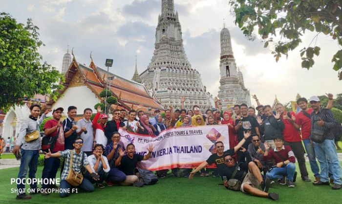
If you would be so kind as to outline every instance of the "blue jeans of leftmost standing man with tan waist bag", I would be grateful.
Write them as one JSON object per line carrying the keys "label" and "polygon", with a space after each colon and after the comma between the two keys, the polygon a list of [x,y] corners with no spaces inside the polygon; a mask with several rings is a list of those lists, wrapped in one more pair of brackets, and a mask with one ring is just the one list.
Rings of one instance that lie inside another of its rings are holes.
{"label": "blue jeans of leftmost standing man with tan waist bag", "polygon": [[[26,150],[21,148],[21,160],[18,178],[21,179],[21,184],[17,185],[18,194],[24,193],[25,185],[24,180],[26,178],[28,170],[28,178],[36,178],[36,172],[38,167],[39,150]],[[37,183],[30,184],[31,188],[37,188]]]}

